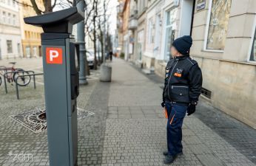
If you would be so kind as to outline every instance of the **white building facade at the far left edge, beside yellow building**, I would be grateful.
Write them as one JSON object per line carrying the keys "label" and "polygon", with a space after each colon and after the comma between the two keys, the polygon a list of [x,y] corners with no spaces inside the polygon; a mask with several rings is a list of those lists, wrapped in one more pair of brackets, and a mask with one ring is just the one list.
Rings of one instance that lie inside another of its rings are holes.
{"label": "white building facade at the far left edge, beside yellow building", "polygon": [[22,57],[19,7],[12,0],[0,0],[0,59]]}

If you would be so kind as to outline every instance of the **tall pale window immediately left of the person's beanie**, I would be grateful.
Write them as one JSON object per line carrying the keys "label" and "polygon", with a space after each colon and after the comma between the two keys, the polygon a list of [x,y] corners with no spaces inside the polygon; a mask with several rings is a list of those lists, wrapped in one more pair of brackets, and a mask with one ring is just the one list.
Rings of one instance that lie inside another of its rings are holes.
{"label": "tall pale window immediately left of the person's beanie", "polygon": [[165,38],[165,48],[164,48],[164,60],[168,61],[171,57],[170,54],[170,47],[172,46],[172,42],[175,38],[175,30],[176,30],[176,23],[175,18],[177,16],[177,8],[173,8],[166,13],[166,38]]}

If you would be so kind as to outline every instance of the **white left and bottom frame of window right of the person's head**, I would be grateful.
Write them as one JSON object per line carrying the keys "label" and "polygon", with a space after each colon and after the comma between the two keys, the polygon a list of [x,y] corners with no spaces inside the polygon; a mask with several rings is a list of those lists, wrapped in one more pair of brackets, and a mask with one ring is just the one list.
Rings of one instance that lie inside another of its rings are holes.
{"label": "white left and bottom frame of window right of the person's head", "polygon": [[205,51],[205,52],[220,52],[220,53],[223,53],[224,50],[206,49],[207,48],[207,40],[208,40],[208,33],[209,33],[209,25],[210,25],[211,13],[212,13],[212,0],[209,0],[208,15],[207,15],[207,19],[206,19],[206,32],[204,34],[203,51]]}

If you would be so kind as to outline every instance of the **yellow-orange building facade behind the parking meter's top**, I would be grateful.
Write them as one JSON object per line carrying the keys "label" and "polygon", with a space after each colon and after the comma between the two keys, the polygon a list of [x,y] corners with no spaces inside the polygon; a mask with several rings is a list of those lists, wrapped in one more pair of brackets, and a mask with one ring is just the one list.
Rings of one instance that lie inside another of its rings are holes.
{"label": "yellow-orange building facade behind the parking meter's top", "polygon": [[[41,57],[41,27],[35,27],[33,25],[25,24],[24,17],[36,15],[36,12],[31,7],[30,0],[22,0],[20,10],[20,22],[21,22],[21,38],[22,38],[22,50],[24,58]],[[36,1],[39,9],[44,11],[43,0]]]}

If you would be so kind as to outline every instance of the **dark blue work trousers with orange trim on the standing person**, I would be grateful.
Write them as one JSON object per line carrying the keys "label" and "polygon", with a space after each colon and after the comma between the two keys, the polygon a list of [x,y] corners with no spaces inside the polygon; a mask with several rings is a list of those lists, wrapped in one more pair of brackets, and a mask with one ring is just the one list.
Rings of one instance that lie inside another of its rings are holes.
{"label": "dark blue work trousers with orange trim on the standing person", "polygon": [[182,152],[182,124],[186,116],[187,106],[166,102],[168,114],[167,122],[167,147],[169,155],[174,156]]}

